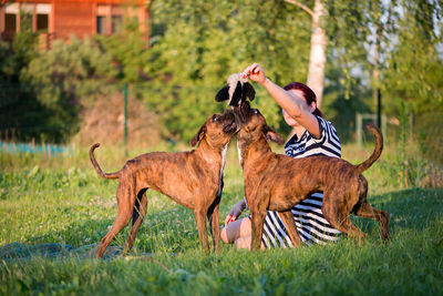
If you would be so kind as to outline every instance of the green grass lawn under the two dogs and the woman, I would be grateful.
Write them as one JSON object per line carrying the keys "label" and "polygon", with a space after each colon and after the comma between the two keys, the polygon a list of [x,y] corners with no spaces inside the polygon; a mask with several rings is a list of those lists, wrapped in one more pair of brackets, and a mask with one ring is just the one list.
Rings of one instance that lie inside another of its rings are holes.
{"label": "green grass lawn under the two dogs and the woman", "polygon": [[[116,214],[117,182],[96,175],[86,150],[52,157],[0,154],[0,247],[58,243],[79,248],[100,242]],[[357,163],[371,150],[344,146],[343,155]],[[236,153],[231,146],[222,220],[243,197]],[[110,147],[100,147],[96,157],[106,172],[125,160],[123,150]],[[383,152],[364,173],[370,203],[390,213],[388,243],[380,239],[378,224],[353,218],[369,233],[363,246],[343,237],[327,246],[258,253],[224,245],[220,254],[203,255],[192,212],[151,191],[128,256],[18,258],[3,252],[0,294],[442,295],[443,190],[403,188],[394,159],[395,153]],[[123,246],[127,228],[122,233],[113,246]]]}

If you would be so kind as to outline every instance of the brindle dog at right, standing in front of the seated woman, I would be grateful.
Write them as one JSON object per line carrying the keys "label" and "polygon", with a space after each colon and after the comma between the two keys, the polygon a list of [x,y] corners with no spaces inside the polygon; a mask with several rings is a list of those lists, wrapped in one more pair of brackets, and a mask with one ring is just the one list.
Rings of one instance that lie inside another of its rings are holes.
{"label": "brindle dog at right, standing in front of the seated woman", "polygon": [[356,241],[365,234],[349,218],[352,212],[360,217],[380,223],[383,238],[389,238],[388,213],[373,208],[367,201],[368,182],[361,175],[374,163],[383,149],[381,132],[373,125],[367,127],[375,136],[372,155],[359,165],[328,156],[291,159],[271,151],[267,140],[282,144],[284,139],[266,124],[257,109],[246,102],[235,109],[237,146],[245,177],[245,195],[251,212],[251,249],[259,249],[266,211],[277,211],[288,228],[295,246],[301,239],[297,233],[290,208],[315,192],[323,192],[322,213],[337,229]]}

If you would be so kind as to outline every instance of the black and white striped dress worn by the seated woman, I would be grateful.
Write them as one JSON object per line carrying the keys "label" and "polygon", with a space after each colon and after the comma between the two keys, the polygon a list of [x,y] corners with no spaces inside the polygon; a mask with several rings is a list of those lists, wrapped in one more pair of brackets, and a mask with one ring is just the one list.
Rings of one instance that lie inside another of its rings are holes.
{"label": "black and white striped dress worn by the seated woman", "polygon": [[[295,134],[285,145],[285,154],[293,157],[327,155],[341,157],[340,141],[336,129],[329,121],[317,116],[320,125],[320,137],[315,139],[308,131],[298,139]],[[340,232],[334,229],[323,217],[321,204],[323,193],[313,193],[309,198],[291,208],[300,238],[307,244],[326,244],[338,241]],[[268,211],[265,220],[262,243],[270,247],[291,247],[285,224],[277,212]]]}

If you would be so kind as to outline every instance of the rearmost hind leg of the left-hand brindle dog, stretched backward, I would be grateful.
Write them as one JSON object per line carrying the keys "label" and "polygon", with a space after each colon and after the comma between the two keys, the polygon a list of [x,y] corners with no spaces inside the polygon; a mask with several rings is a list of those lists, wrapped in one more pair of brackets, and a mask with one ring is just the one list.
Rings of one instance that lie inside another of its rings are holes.
{"label": "rearmost hind leg of the left-hand brindle dog, stretched backward", "polygon": [[117,188],[117,201],[119,201],[119,210],[117,210],[117,216],[114,221],[114,223],[111,226],[111,229],[107,232],[107,234],[102,238],[99,245],[99,251],[96,254],[97,258],[103,257],[103,254],[106,249],[106,247],[110,245],[112,239],[117,235],[130,222],[133,208],[134,208],[134,202],[135,202],[135,196],[134,195],[134,190],[132,186],[124,185],[122,186],[122,183],[119,185]]}

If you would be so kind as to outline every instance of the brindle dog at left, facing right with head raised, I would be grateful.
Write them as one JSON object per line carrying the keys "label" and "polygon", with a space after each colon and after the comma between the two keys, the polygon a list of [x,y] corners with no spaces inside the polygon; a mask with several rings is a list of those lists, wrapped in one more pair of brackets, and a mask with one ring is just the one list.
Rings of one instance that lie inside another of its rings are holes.
{"label": "brindle dog at left, facing right with head raised", "polygon": [[198,228],[200,246],[209,252],[206,217],[213,233],[215,251],[220,248],[218,206],[223,191],[223,169],[231,136],[237,132],[233,111],[214,114],[190,141],[196,150],[169,153],[153,152],[126,162],[116,173],[103,173],[94,159],[94,144],[90,159],[99,175],[119,178],[117,216],[102,238],[96,257],[102,257],[107,245],[133,217],[125,252],[132,248],[135,235],[146,214],[146,190],[155,190],[178,204],[193,210]]}

